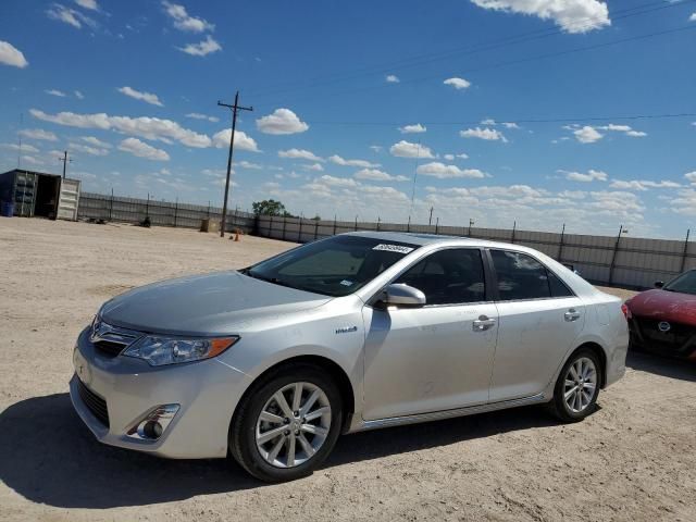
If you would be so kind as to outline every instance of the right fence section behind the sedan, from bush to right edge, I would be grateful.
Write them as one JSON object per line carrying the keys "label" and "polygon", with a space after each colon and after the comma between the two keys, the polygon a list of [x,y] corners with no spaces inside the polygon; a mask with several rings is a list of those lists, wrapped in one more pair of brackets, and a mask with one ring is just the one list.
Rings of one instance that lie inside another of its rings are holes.
{"label": "right fence section behind the sedan, from bush to right edge", "polygon": [[414,232],[514,243],[535,248],[563,263],[572,263],[587,281],[608,286],[647,288],[669,281],[684,270],[696,269],[696,244],[621,236],[586,236],[548,232],[468,226],[406,225],[315,221],[299,217],[259,217],[256,234],[274,239],[307,243],[353,231]]}

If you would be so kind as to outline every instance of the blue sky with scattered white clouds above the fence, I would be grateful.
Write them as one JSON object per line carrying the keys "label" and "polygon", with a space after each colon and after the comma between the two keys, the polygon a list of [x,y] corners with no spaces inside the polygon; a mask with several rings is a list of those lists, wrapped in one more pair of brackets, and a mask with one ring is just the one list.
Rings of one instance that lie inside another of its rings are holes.
{"label": "blue sky with scattered white clouds above the fence", "polygon": [[694,0],[4,0],[0,170],[221,206],[239,89],[232,208],[679,238],[695,44]]}

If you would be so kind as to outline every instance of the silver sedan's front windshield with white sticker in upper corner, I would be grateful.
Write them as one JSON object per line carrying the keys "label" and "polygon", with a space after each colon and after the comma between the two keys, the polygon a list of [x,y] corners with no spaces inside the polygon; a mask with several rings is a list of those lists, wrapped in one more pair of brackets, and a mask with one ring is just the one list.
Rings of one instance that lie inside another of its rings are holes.
{"label": "silver sedan's front windshield with white sticker in upper corner", "polygon": [[418,248],[400,241],[334,236],[262,261],[241,273],[276,285],[340,297],[352,294]]}

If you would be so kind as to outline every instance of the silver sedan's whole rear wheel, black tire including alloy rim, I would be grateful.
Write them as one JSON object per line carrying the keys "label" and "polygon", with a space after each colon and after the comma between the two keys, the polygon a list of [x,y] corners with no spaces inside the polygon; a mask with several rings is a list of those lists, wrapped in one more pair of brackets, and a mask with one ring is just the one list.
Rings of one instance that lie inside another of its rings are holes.
{"label": "silver sedan's whole rear wheel, black tire including alloy rim", "polygon": [[[582,348],[575,351],[558,375],[554,387],[554,400],[549,402],[551,413],[563,422],[579,422],[595,411],[601,371],[599,359],[593,350]],[[579,386],[582,386],[580,394]]]}

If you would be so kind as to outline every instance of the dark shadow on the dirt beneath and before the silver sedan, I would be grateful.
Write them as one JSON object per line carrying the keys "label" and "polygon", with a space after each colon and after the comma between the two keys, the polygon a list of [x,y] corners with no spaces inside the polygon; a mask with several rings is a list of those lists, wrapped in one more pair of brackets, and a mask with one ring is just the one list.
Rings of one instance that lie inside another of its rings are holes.
{"label": "dark shadow on the dirt beneath and before the silver sedan", "polygon": [[[323,468],[555,424],[543,409],[527,407],[358,433],[340,437]],[[32,501],[87,509],[265,486],[231,460],[166,460],[104,446],[67,394],[22,400],[0,413],[0,480]]]}

